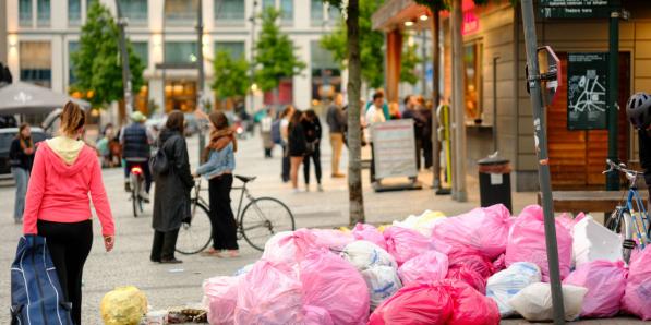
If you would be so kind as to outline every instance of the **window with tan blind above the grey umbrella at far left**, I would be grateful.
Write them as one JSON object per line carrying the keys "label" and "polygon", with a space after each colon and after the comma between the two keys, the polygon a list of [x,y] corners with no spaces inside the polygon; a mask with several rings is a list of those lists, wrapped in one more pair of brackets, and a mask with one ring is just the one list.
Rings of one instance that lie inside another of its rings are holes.
{"label": "window with tan blind above the grey umbrella at far left", "polygon": [[21,81],[50,87],[52,83],[52,52],[49,41],[21,41]]}

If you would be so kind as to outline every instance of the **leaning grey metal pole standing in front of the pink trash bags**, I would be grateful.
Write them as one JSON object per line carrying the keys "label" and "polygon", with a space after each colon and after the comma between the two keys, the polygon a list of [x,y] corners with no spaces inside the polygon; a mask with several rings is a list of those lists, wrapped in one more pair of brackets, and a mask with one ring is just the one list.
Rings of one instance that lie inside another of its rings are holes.
{"label": "leaning grey metal pole standing in front of the pink trash bags", "polygon": [[550,285],[552,289],[552,303],[554,304],[554,324],[565,324],[565,308],[563,305],[563,291],[558,272],[558,248],[556,242],[556,225],[554,219],[554,202],[552,201],[552,181],[547,157],[547,139],[545,134],[544,116],[542,107],[542,93],[540,69],[538,67],[538,39],[535,36],[535,22],[532,0],[522,0],[522,25],[525,26],[525,44],[527,47],[527,64],[529,67],[529,83],[531,107],[533,109],[533,128],[535,137],[535,152],[538,153],[538,178],[542,194],[542,207],[545,221],[545,243],[547,262],[550,264]]}

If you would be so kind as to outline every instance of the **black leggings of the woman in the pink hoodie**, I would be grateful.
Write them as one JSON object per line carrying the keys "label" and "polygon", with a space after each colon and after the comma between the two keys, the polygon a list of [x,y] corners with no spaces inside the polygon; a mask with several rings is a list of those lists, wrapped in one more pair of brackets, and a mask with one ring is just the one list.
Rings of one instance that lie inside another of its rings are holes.
{"label": "black leggings of the woman in the pink hoodie", "polygon": [[72,321],[82,324],[82,275],[93,246],[93,222],[38,220],[37,229],[38,234],[46,238],[63,296],[72,303]]}

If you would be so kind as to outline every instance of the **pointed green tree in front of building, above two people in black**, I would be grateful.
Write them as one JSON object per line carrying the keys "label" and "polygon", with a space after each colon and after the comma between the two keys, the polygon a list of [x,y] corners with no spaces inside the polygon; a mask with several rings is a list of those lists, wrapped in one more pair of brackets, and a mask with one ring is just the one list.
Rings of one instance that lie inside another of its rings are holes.
{"label": "pointed green tree in front of building, above two people in black", "polygon": [[261,89],[274,91],[274,101],[278,103],[278,85],[282,79],[298,75],[305,69],[305,62],[294,55],[293,46],[287,34],[278,26],[280,12],[267,8],[262,13],[262,29],[255,44],[255,80]]}

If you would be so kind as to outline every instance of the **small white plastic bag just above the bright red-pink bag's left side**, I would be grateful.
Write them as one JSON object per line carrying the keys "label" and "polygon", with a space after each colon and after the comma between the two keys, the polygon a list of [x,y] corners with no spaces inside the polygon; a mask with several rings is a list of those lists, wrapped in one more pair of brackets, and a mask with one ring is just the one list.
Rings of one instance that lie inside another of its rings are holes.
{"label": "small white plastic bag just above the bright red-pink bag's left side", "polygon": [[372,266],[362,270],[362,277],[369,288],[371,310],[377,308],[387,298],[394,296],[394,293],[402,288],[398,273],[393,266]]}

